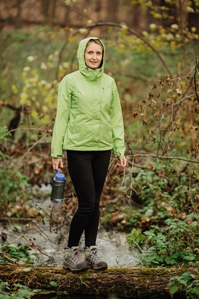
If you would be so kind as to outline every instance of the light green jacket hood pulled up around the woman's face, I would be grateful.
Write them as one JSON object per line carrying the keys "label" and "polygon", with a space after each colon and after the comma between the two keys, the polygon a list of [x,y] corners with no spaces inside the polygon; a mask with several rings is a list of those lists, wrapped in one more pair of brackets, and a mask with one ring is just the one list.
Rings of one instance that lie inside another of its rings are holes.
{"label": "light green jacket hood pulled up around the woman's face", "polygon": [[99,39],[100,40],[100,38],[98,38],[98,37],[87,37],[87,38],[81,40],[79,47],[78,47],[77,57],[78,57],[78,63],[79,63],[79,70],[82,73],[82,75],[84,77],[86,77],[87,80],[89,80],[89,81],[96,81],[98,78],[100,78],[100,76],[103,73],[105,48],[104,48],[104,44],[100,40],[100,42],[102,43],[102,46],[103,46],[103,56],[101,59],[100,67],[98,69],[89,68],[85,63],[84,53],[85,53],[87,43],[89,42],[90,39]]}

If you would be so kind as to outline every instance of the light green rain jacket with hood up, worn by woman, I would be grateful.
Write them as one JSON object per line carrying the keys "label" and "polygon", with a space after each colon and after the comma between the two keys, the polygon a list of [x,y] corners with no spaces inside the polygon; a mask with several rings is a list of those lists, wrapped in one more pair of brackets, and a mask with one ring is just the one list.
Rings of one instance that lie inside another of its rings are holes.
{"label": "light green rain jacket with hood up, worn by woman", "polygon": [[[124,155],[124,127],[115,81],[103,73],[105,49],[100,67],[88,68],[84,60],[86,45],[78,47],[79,70],[66,75],[59,84],[57,115],[51,142],[51,156],[63,157],[63,149],[113,149],[115,157]],[[103,43],[102,43],[103,44]]]}

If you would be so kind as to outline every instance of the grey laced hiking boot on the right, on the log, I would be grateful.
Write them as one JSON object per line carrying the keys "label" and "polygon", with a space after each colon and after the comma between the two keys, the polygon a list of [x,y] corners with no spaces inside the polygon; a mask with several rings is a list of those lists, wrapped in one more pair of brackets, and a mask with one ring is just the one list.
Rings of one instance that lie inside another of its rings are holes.
{"label": "grey laced hiking boot on the right, on the log", "polygon": [[98,246],[85,247],[85,259],[88,268],[93,268],[94,270],[101,270],[108,268],[106,262],[100,260],[97,251],[99,251]]}

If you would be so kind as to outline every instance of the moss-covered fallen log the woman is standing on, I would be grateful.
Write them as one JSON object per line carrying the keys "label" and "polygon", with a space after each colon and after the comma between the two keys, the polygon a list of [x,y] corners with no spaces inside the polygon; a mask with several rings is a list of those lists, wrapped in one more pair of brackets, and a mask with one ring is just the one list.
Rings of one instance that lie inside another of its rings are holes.
{"label": "moss-covered fallen log the woman is standing on", "polygon": [[[170,299],[170,278],[184,272],[199,273],[199,268],[109,268],[99,272],[92,269],[71,273],[57,266],[13,265],[0,263],[0,279],[21,284],[30,289],[66,291],[68,294],[107,296],[120,298]],[[52,286],[51,281],[56,284]],[[173,299],[185,298],[177,292]]]}

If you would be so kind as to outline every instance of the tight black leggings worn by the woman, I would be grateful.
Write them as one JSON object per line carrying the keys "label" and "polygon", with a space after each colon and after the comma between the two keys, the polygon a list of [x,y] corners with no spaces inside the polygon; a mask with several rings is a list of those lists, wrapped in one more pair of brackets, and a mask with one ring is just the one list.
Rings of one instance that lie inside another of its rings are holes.
{"label": "tight black leggings worn by the woman", "polygon": [[96,245],[100,219],[100,195],[106,178],[111,149],[69,150],[68,170],[78,197],[71,221],[68,247],[78,246],[85,231],[85,246]]}

